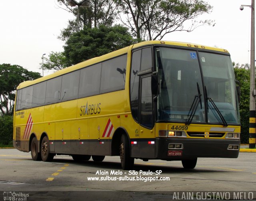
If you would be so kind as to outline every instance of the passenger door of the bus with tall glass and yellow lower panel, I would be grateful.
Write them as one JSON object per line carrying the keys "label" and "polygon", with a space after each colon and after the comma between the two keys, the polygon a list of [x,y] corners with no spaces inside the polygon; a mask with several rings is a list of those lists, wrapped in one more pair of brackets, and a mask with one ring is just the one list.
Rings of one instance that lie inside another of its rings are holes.
{"label": "passenger door of the bus with tall glass and yellow lower panel", "polygon": [[140,157],[155,157],[151,74],[140,78]]}

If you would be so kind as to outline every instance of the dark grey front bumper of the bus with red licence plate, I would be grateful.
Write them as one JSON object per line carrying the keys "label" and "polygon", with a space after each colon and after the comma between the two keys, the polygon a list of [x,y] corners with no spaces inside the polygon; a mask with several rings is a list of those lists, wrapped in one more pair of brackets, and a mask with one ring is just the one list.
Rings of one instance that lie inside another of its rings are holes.
{"label": "dark grey front bumper of the bus with red licence plate", "polygon": [[[181,147],[173,148],[176,144]],[[236,149],[232,148],[232,145]],[[170,161],[195,159],[197,157],[237,158],[240,140],[156,138],[155,148],[157,159]]]}

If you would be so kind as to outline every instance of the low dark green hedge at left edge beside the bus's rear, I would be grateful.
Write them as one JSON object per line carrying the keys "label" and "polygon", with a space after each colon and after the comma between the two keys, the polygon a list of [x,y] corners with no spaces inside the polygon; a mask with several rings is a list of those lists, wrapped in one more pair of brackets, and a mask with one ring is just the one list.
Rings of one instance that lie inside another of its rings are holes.
{"label": "low dark green hedge at left edge beside the bus's rear", "polygon": [[0,144],[12,145],[13,116],[0,116]]}

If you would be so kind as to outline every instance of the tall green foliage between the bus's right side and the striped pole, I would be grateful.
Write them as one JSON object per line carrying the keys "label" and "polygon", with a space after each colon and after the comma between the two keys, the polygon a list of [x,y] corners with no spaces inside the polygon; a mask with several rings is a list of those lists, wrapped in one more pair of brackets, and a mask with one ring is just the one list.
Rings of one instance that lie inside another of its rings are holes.
{"label": "tall green foliage between the bus's right side and the striped pole", "polygon": [[250,111],[250,66],[235,64],[234,73],[240,82],[241,101],[239,105],[241,121],[241,143],[248,143],[249,139],[249,111]]}

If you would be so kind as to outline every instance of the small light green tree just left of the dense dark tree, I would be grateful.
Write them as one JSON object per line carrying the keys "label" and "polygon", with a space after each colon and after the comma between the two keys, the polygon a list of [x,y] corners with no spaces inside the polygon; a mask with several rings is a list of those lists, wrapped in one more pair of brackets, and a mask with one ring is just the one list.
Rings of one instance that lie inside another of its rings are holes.
{"label": "small light green tree just left of the dense dark tree", "polygon": [[[64,52],[52,52],[49,57],[44,59],[44,70],[61,70],[68,67],[70,62],[67,61],[67,58],[64,56]],[[40,64],[42,66],[42,63]]]}

